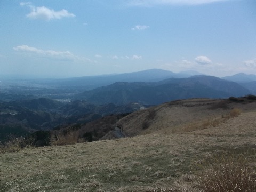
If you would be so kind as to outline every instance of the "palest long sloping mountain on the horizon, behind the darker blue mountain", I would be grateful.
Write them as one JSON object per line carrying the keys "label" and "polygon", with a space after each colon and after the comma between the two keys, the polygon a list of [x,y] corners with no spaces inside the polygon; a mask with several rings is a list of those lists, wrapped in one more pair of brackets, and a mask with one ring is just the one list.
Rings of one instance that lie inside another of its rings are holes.
{"label": "palest long sloping mountain on the horizon, behind the darker blue mountain", "polygon": [[163,69],[149,69],[132,73],[85,76],[63,79],[34,79],[30,84],[44,85],[44,87],[76,87],[90,90],[101,86],[113,84],[115,82],[158,82],[167,78],[186,78],[193,75],[201,75],[197,71],[181,71],[173,73]]}

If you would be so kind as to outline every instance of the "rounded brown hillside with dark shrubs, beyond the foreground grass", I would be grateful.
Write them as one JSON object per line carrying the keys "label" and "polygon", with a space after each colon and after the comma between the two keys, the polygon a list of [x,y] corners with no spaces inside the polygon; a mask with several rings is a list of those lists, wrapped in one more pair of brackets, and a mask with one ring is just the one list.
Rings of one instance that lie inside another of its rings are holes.
{"label": "rounded brown hillside with dark shrubs, beyond the foreground grass", "polygon": [[176,126],[197,121],[225,117],[232,109],[244,112],[256,109],[256,102],[244,99],[188,99],[167,102],[149,109],[132,113],[117,122],[127,137],[172,130]]}

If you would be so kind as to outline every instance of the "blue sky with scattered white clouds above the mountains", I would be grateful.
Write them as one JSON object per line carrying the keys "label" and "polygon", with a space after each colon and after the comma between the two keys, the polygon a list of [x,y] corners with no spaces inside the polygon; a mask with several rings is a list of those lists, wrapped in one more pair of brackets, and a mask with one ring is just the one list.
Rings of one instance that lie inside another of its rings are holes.
{"label": "blue sky with scattered white clouds above the mountains", "polygon": [[255,0],[0,0],[0,75],[256,74]]}

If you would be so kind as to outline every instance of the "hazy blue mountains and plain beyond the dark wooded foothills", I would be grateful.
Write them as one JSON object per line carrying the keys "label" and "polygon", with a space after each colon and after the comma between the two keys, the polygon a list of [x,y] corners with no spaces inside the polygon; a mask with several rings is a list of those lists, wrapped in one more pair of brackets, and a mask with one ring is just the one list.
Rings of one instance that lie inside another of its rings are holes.
{"label": "hazy blue mountains and plain beyond the dark wooded foothills", "polygon": [[124,105],[130,102],[157,105],[177,99],[239,97],[256,92],[256,82],[253,82],[255,75],[241,73],[218,78],[198,74],[197,71],[173,73],[150,69],[134,73],[66,79],[32,79],[7,83],[1,81],[0,100],[43,97],[62,101],[85,100],[100,105]]}

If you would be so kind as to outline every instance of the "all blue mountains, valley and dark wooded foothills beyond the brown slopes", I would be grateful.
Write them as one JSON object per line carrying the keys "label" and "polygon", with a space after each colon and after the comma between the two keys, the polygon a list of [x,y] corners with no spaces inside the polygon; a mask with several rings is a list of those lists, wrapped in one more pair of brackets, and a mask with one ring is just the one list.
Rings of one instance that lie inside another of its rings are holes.
{"label": "all blue mountains, valley and dark wooded foothills beyond the brown slopes", "polygon": [[162,69],[67,79],[1,81],[0,141],[10,135],[86,124],[106,115],[126,114],[173,100],[255,93],[254,75],[218,78],[197,71],[173,73]]}

